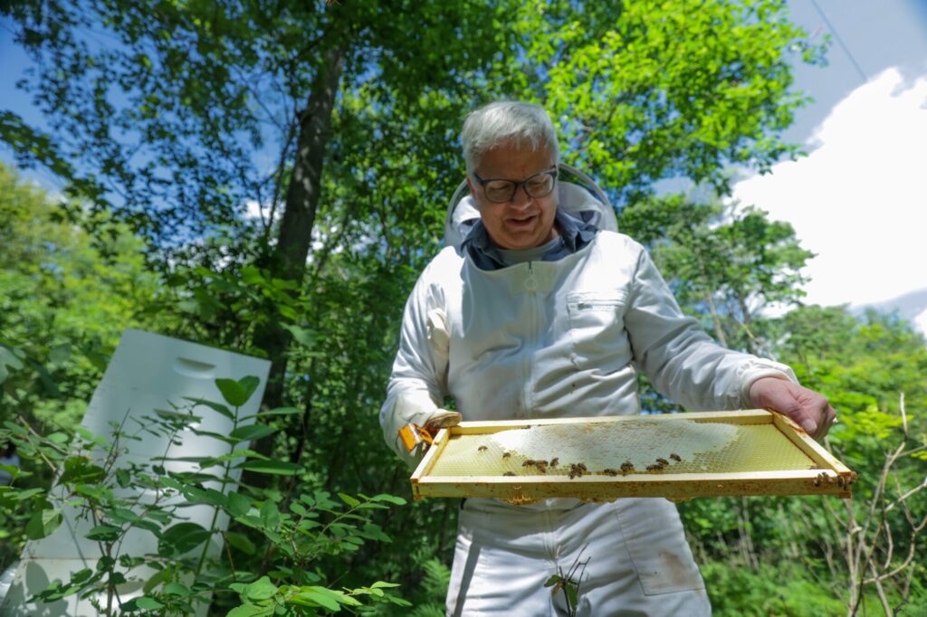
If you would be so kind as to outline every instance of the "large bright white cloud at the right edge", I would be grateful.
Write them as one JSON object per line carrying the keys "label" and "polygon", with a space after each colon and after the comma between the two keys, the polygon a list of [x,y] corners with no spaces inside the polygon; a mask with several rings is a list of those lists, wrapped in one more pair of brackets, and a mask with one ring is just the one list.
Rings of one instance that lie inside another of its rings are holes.
{"label": "large bright white cloud at the right edge", "polygon": [[818,254],[806,302],[869,304],[927,287],[927,75],[884,71],[833,107],[806,149],[733,191]]}

